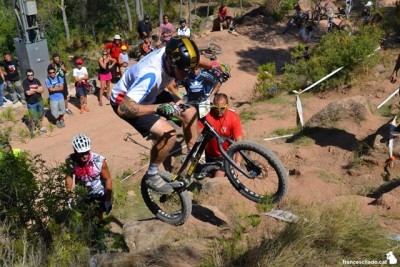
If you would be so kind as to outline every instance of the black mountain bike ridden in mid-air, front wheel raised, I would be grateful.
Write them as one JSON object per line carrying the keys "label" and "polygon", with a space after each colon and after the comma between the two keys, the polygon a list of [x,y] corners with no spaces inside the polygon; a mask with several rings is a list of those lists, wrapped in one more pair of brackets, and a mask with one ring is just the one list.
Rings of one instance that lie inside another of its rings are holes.
{"label": "black mountain bike ridden in mid-air, front wheel raised", "polygon": [[[160,176],[174,188],[174,192],[160,194],[146,185],[145,178],[141,182],[144,202],[158,219],[168,224],[182,225],[189,218],[192,212],[192,200],[188,187],[197,179],[196,170],[200,165],[200,158],[211,138],[217,139],[218,148],[224,158],[226,176],[240,194],[254,202],[272,203],[278,202],[286,195],[289,186],[288,172],[271,150],[252,141],[228,140],[231,145],[225,151],[222,144],[227,140],[205,120],[208,112],[199,111],[207,109],[206,105],[189,102],[181,104],[180,108],[185,110],[190,106],[198,110],[197,114],[204,123],[204,129],[175,175],[162,170],[159,172]],[[210,167],[207,164],[210,163],[204,164],[206,165],[204,168]]]}

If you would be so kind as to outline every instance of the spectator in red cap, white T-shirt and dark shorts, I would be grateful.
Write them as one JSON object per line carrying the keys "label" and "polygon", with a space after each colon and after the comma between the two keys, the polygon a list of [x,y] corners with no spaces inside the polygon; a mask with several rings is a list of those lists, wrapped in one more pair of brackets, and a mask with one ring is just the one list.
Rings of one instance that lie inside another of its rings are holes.
{"label": "spectator in red cap, white T-shirt and dark shorts", "polygon": [[87,104],[89,88],[87,79],[89,79],[89,73],[86,67],[83,66],[83,60],[81,58],[76,60],[76,68],[74,68],[72,75],[75,80],[76,95],[79,98],[80,113],[82,114],[84,111],[89,112],[89,106]]}

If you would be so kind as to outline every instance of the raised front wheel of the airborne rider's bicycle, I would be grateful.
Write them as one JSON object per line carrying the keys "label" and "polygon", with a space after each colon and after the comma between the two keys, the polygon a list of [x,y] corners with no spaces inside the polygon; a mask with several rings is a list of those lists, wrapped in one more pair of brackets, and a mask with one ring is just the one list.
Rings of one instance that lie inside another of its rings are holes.
{"label": "raised front wheel of the airborne rider's bicycle", "polygon": [[239,193],[254,202],[276,203],[288,191],[287,170],[268,148],[251,141],[232,144],[227,154],[249,176],[246,177],[225,160],[225,172]]}

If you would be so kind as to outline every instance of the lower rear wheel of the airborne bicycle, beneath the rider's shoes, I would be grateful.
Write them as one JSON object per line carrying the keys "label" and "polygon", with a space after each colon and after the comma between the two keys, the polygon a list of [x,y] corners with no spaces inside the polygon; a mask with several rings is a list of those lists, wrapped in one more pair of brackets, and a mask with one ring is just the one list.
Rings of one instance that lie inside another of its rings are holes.
{"label": "lower rear wheel of the airborne bicycle, beneath the rider's shoes", "polygon": [[[171,173],[160,170],[159,174],[166,182],[172,182]],[[141,193],[149,210],[165,223],[182,225],[192,213],[192,201],[186,190],[163,195],[150,189],[142,179]]]}

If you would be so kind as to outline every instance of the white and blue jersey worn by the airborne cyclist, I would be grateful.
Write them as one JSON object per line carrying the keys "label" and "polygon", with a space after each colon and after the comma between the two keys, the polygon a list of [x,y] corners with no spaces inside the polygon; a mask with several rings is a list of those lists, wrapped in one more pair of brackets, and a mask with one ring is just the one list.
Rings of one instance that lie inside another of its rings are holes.
{"label": "white and blue jersey worn by the airborne cyclist", "polygon": [[153,104],[174,79],[163,69],[164,52],[165,47],[155,50],[130,67],[113,87],[111,101],[119,104],[127,95],[138,104]]}

